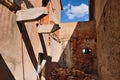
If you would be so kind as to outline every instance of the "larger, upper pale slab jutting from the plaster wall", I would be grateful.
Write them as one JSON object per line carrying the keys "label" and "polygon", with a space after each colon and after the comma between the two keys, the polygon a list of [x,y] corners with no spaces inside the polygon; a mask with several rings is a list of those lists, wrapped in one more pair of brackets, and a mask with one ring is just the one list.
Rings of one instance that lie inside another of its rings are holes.
{"label": "larger, upper pale slab jutting from the plaster wall", "polygon": [[48,14],[45,7],[30,8],[17,11],[17,21],[32,21],[39,19],[41,16]]}

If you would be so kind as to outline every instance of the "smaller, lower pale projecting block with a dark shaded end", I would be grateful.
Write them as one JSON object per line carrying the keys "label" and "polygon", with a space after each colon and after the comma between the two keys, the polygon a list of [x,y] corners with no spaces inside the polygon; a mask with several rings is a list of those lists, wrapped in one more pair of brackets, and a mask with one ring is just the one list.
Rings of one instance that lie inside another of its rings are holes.
{"label": "smaller, lower pale projecting block with a dark shaded end", "polygon": [[53,33],[60,29],[58,24],[38,25],[38,33]]}

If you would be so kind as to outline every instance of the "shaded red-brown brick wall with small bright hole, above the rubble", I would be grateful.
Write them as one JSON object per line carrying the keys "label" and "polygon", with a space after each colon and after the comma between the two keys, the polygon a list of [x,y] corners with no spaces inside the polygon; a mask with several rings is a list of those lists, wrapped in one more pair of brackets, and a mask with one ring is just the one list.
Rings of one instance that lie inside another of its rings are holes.
{"label": "shaded red-brown brick wall with small bright hole, above the rubble", "polygon": [[[88,74],[97,72],[95,22],[78,23],[72,35],[72,66]],[[89,48],[90,54],[83,54],[82,49]]]}

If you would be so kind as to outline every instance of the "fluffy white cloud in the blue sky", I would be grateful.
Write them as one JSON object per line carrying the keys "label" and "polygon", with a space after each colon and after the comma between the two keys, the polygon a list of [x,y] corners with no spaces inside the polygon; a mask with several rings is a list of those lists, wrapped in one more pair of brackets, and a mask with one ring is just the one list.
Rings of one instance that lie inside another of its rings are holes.
{"label": "fluffy white cloud in the blue sky", "polygon": [[84,3],[80,4],[79,6],[68,4],[67,6],[63,7],[63,10],[66,10],[65,14],[68,16],[68,19],[81,18],[88,14],[88,5]]}

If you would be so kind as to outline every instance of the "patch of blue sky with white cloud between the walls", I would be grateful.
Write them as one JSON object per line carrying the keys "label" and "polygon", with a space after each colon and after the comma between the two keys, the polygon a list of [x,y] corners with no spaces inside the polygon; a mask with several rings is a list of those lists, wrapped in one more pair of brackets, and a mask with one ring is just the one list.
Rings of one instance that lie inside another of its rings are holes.
{"label": "patch of blue sky with white cloud between the walls", "polygon": [[89,20],[88,0],[61,0],[61,22],[76,22]]}

